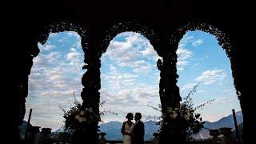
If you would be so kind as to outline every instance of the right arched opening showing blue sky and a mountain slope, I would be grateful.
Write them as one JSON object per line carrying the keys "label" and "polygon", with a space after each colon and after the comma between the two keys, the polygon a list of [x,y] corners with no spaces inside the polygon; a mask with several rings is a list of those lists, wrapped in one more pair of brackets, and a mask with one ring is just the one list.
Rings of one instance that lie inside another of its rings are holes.
{"label": "right arched opening showing blue sky and a mountain slope", "polygon": [[[237,112],[238,124],[243,122],[228,52],[222,49],[214,35],[199,30],[186,32],[178,44],[178,86],[182,98],[199,83],[197,92],[191,96],[194,106],[214,99],[198,110],[208,129],[234,129],[232,109]],[[209,137],[206,129],[194,136],[198,139]]]}

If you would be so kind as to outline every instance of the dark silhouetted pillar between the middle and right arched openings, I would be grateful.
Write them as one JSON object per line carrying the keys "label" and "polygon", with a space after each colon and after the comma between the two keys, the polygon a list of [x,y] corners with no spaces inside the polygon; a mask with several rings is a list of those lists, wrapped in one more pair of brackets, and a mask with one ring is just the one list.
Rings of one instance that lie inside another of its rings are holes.
{"label": "dark silhouetted pillar between the middle and right arched openings", "polygon": [[[166,34],[167,35],[167,34]],[[165,51],[162,55],[162,61],[158,60],[158,70],[160,70],[159,94],[162,104],[162,128],[159,134],[159,142],[182,142],[185,141],[184,133],[180,122],[174,122],[170,118],[168,109],[179,106],[182,100],[177,86],[177,54],[178,43],[170,45],[170,38],[162,36],[162,50]],[[177,47],[175,47],[177,46]]]}

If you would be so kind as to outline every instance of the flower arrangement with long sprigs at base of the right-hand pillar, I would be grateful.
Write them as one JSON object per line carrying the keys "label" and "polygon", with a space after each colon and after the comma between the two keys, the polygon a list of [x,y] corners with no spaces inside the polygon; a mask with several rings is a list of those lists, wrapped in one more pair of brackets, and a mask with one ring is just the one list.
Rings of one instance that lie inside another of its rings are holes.
{"label": "flower arrangement with long sprigs at base of the right-hand pillar", "polygon": [[[186,98],[183,98],[183,101],[178,103],[176,107],[167,107],[166,114],[162,114],[161,117],[149,116],[149,118],[154,118],[154,120],[158,119],[157,124],[162,126],[161,130],[169,131],[171,133],[173,130],[179,129],[182,130],[181,134],[185,135],[186,141],[194,139],[192,135],[198,134],[198,132],[204,127],[205,123],[202,122],[201,114],[196,113],[196,110],[202,108],[202,106],[205,106],[207,103],[214,101],[213,99],[202,103],[200,106],[194,107],[191,95],[196,92],[198,84],[194,86],[192,90],[190,90]],[[154,106],[150,107],[154,108],[154,110],[162,112],[161,105],[159,105],[159,109],[155,108]],[[160,130],[158,132],[160,132]]]}

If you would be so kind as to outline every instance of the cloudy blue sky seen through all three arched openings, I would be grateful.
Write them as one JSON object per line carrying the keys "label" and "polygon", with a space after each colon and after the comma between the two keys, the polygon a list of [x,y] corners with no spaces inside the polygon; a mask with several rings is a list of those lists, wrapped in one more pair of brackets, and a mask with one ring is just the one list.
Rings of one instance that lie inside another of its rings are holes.
{"label": "cloudy blue sky seen through all three arched openings", "polygon": [[[26,117],[33,109],[31,123],[35,126],[62,126],[63,113],[73,105],[73,95],[81,101],[81,78],[84,54],[81,38],[74,32],[50,34],[34,58],[29,80],[29,94],[26,98]],[[178,86],[185,97],[192,86],[200,82],[198,91],[192,97],[198,106],[215,98],[216,100],[198,112],[203,120],[217,121],[240,110],[233,86],[230,61],[214,36],[202,31],[188,32],[179,43]],[[147,115],[160,114],[151,106],[158,106],[159,71],[156,66],[158,54],[150,42],[141,34],[126,32],[118,34],[102,54],[101,110],[112,110],[118,116],[108,114],[104,122],[125,121],[128,112],[141,112],[143,120]]]}

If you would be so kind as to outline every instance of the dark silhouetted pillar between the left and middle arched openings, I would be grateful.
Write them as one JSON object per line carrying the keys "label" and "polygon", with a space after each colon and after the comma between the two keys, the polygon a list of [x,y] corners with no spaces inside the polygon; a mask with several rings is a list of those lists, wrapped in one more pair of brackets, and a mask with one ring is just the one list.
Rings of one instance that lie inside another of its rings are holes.
{"label": "dark silhouetted pillar between the left and middle arched openings", "polygon": [[[88,42],[88,39],[82,38],[82,42]],[[89,41],[90,42],[90,41]],[[98,121],[99,116],[99,92],[100,90],[100,58],[97,54],[95,45],[89,45],[90,49],[86,45],[82,44],[82,48],[85,52],[85,66],[83,69],[86,73],[82,76],[82,110],[90,109],[90,115],[87,121],[81,129],[74,132],[74,143],[98,143]]]}

